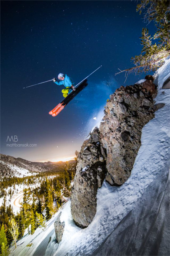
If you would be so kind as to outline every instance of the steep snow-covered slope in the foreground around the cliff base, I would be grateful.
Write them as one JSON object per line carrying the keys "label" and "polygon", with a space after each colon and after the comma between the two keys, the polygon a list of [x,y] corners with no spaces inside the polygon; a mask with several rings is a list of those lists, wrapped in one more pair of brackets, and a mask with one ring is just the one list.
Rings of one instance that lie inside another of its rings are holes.
{"label": "steep snow-covered slope in the foreground around the cliff base", "polygon": [[[73,223],[69,201],[61,214],[65,228],[59,244],[54,231],[56,213],[47,230],[26,235],[12,255],[170,255],[170,90],[161,89],[169,66],[170,59],[156,72],[156,104],[165,106],[142,129],[142,146],[130,178],[121,187],[103,183],[96,215],[87,228]],[[29,242],[33,245],[26,247]]]}

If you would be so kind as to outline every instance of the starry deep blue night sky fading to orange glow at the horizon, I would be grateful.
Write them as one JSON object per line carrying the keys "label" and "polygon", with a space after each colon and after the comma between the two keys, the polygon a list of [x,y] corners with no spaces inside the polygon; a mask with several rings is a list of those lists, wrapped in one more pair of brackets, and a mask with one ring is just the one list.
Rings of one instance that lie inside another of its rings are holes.
{"label": "starry deep blue night sky fading to orange glow at the horizon", "polygon": [[[100,121],[109,95],[145,74],[114,76],[140,54],[137,1],[1,1],[1,153],[30,161],[74,157]],[[149,32],[154,26],[149,24]],[[44,83],[68,74],[88,86],[56,117],[63,86]],[[93,119],[95,118],[95,119]],[[7,142],[8,136],[18,141]],[[13,137],[14,138],[14,137]],[[16,138],[16,137],[15,137]],[[16,140],[16,139],[15,139]],[[37,144],[7,147],[7,144]]]}

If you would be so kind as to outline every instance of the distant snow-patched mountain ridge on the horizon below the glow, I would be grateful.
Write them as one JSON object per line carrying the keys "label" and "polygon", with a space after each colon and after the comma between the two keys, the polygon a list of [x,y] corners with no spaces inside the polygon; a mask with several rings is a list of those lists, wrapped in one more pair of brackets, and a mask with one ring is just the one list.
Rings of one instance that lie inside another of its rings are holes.
{"label": "distant snow-patched mountain ridge on the horizon below the glow", "polygon": [[[70,160],[69,164],[75,165],[75,160]],[[60,169],[66,166],[65,162],[31,162],[20,157],[15,158],[14,156],[8,156],[0,154],[0,175],[14,175],[15,172],[18,173],[27,171],[30,173],[39,173],[44,171],[51,171],[55,168]],[[17,171],[16,171],[17,170]],[[30,174],[29,174],[30,175]]]}

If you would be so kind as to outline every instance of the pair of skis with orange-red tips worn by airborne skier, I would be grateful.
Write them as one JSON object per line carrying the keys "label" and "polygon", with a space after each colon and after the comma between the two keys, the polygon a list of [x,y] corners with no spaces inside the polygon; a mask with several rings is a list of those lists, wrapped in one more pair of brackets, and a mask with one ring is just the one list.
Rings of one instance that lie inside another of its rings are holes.
{"label": "pair of skis with orange-red tips worn by airborne skier", "polygon": [[54,109],[49,111],[51,116],[57,116],[65,106],[79,93],[81,92],[86,86],[88,85],[87,79],[80,83],[75,91],[72,91],[64,100],[62,100]]}

